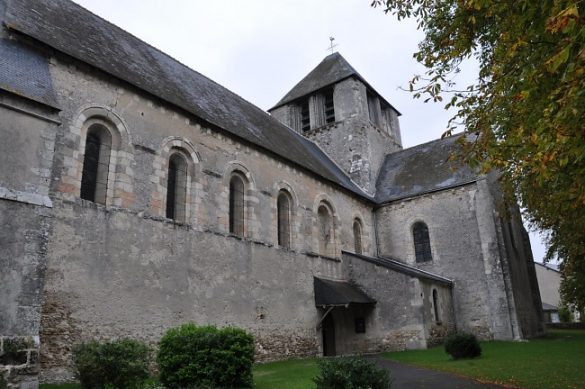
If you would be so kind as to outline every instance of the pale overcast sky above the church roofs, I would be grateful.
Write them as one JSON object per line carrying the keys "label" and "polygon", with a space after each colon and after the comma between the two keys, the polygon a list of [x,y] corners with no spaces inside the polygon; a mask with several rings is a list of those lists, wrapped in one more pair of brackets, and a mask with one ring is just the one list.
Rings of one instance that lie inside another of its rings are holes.
{"label": "pale overcast sky above the church roofs", "polygon": [[[336,51],[398,111],[404,147],[437,139],[453,112],[414,100],[423,34],[371,0],[76,0],[175,59],[267,110]],[[473,80],[473,71],[460,83]],[[531,233],[536,260],[544,249]]]}

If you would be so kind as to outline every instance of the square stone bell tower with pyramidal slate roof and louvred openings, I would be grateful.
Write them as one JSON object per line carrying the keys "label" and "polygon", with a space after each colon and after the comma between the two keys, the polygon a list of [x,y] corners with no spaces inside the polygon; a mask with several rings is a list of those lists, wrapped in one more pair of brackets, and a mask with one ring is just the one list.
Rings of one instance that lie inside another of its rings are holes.
{"label": "square stone bell tower with pyramidal slate roof and louvred openings", "polygon": [[402,149],[400,113],[339,53],[325,57],[269,112],[317,143],[372,195],[385,156]]}

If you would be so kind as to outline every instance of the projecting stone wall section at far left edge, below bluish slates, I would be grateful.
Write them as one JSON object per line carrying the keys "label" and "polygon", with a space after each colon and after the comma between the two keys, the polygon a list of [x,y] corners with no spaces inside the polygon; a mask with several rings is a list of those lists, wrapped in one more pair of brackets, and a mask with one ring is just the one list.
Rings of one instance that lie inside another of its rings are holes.
{"label": "projecting stone wall section at far left edge, below bluish slates", "polygon": [[8,387],[33,388],[58,118],[54,109],[2,90],[0,117],[0,377]]}

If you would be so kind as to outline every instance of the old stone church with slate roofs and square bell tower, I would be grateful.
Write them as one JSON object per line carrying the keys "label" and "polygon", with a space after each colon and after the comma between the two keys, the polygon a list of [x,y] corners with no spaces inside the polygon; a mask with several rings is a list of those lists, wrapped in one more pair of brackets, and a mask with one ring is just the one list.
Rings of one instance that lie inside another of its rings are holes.
{"label": "old stone church with slate roofs and square bell tower", "polygon": [[249,330],[257,360],[543,332],[496,174],[450,162],[457,137],[403,149],[339,53],[267,113],[68,0],[0,0],[0,21],[11,385],[185,322]]}

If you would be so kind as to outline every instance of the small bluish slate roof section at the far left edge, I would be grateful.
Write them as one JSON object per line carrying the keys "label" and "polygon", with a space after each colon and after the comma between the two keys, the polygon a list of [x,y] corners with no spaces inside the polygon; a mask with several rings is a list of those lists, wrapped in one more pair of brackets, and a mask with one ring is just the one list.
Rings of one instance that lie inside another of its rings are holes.
{"label": "small bluish slate roof section at the far left edge", "polygon": [[0,39],[0,89],[57,108],[48,59],[8,39]]}

